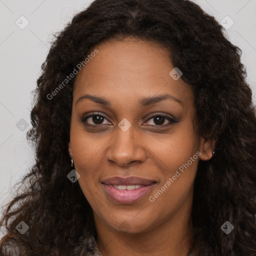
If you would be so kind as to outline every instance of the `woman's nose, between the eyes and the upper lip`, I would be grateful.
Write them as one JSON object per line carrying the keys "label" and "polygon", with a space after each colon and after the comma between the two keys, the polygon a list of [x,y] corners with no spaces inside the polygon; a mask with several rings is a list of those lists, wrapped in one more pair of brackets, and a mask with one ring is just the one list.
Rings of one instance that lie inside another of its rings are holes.
{"label": "woman's nose, between the eyes and the upper lip", "polygon": [[146,159],[145,141],[132,125],[126,131],[117,127],[106,151],[106,159],[120,166],[127,166],[131,162],[141,163]]}

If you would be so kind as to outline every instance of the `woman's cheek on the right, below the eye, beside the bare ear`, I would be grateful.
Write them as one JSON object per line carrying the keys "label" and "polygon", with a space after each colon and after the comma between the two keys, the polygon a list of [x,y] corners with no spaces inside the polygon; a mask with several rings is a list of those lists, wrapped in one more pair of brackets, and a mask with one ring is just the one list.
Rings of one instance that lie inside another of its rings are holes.
{"label": "woman's cheek on the right, below the eye, beside the bare ear", "polygon": [[182,201],[182,197],[186,196],[193,185],[200,154],[198,138],[192,123],[182,123],[165,139],[157,141],[154,150],[160,160],[158,167],[162,175],[158,187],[161,191],[156,195],[157,198],[159,197],[157,200],[169,202],[170,196],[175,196]]}

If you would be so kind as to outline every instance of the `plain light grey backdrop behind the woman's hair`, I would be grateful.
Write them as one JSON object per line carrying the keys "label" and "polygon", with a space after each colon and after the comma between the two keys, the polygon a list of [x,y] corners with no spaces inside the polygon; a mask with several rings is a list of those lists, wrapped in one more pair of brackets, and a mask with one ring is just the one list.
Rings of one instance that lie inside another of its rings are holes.
{"label": "plain light grey backdrop behind the woman's hair", "polygon": [[[242,49],[247,79],[255,93],[256,73],[253,70],[256,69],[256,0],[193,1],[214,15],[219,22],[227,15],[234,21],[226,32],[229,40]],[[14,190],[11,189],[13,184],[34,162],[34,153],[25,139],[26,131],[31,128],[30,92],[35,88],[40,66],[53,38],[51,33],[61,30],[74,13],[90,2],[91,0],[0,0],[1,208],[14,195]],[[24,29],[20,29],[15,23],[20,20],[21,15],[29,21]],[[23,131],[16,127],[21,118],[29,124]]]}

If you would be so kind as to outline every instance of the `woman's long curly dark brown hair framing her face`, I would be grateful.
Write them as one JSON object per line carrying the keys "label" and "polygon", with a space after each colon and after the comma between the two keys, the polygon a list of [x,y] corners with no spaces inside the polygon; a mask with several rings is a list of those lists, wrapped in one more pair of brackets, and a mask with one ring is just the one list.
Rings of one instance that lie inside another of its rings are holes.
{"label": "woman's long curly dark brown hair framing her face", "polygon": [[[75,77],[51,99],[49,94],[95,45],[127,36],[169,49],[173,66],[194,88],[200,135],[217,138],[213,157],[198,163],[191,255],[256,255],[255,107],[241,50],[215,18],[189,0],[95,0],[54,36],[26,133],[36,162],[6,205],[0,255],[79,255],[81,243],[97,235],[78,182],[67,178]],[[15,229],[20,221],[29,226],[24,234]],[[234,226],[229,234],[220,228],[225,221]]]}

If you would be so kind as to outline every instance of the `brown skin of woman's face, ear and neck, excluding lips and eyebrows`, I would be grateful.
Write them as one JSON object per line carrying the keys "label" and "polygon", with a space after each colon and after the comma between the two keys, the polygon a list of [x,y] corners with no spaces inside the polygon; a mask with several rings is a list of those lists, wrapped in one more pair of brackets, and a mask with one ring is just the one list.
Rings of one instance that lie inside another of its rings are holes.
{"label": "brown skin of woman's face, ear and neck, excluding lips and eyebrows", "polygon": [[[198,160],[212,157],[215,141],[198,134],[193,91],[169,75],[173,65],[167,49],[134,38],[111,39],[95,48],[99,52],[75,79],[68,150],[93,210],[99,251],[103,256],[185,256],[193,241],[190,215]],[[143,97],[164,93],[182,103],[164,99],[139,104]],[[104,97],[111,106],[88,98],[76,104],[84,94]],[[92,112],[106,118],[93,122],[89,117],[83,123],[81,118]],[[155,113],[171,115],[177,122],[155,122]],[[123,118],[131,124],[126,131],[118,126]],[[197,151],[200,156],[151,202],[149,196]],[[120,204],[107,197],[101,184],[113,176],[157,183],[140,200]]]}

